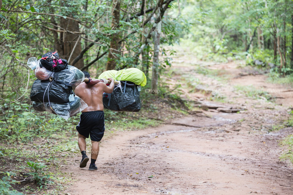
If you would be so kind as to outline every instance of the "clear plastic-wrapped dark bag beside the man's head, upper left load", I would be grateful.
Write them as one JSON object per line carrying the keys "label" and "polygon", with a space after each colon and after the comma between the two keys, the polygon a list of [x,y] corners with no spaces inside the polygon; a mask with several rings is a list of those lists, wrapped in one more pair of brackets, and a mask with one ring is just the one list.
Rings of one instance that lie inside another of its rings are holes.
{"label": "clear plastic-wrapped dark bag beside the man's head, upper left load", "polygon": [[78,68],[68,65],[68,69],[54,73],[53,78],[57,82],[73,87],[78,86],[82,81],[84,81],[85,75]]}

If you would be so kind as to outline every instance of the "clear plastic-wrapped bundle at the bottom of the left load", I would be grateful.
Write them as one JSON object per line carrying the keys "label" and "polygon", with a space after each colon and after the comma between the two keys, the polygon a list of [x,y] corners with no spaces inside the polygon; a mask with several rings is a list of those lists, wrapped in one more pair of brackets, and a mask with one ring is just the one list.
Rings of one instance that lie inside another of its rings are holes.
{"label": "clear plastic-wrapped bundle at the bottom of the left load", "polygon": [[[48,111],[50,113],[61,116],[63,119],[67,120],[69,117],[74,116],[81,112],[83,109],[88,107],[88,105],[78,96],[74,97],[74,101],[70,101],[63,104],[45,102],[45,106],[42,102],[32,102],[34,110],[38,112]],[[50,108],[51,105],[51,108]]]}

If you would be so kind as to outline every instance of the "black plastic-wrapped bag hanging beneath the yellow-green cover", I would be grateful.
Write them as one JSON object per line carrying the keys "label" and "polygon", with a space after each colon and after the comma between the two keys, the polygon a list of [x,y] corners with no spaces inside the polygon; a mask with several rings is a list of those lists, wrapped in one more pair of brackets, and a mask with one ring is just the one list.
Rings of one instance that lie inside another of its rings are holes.
{"label": "black plastic-wrapped bag hanging beneath the yellow-green cover", "polygon": [[104,108],[113,111],[139,112],[141,101],[139,91],[135,84],[123,84],[122,90],[116,87],[112,93],[103,94]]}

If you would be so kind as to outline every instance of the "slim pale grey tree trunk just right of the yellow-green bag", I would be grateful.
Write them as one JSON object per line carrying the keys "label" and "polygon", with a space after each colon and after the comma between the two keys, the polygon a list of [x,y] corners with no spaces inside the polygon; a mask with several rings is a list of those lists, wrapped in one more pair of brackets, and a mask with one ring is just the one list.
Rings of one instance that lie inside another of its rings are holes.
{"label": "slim pale grey tree trunk just right of the yellow-green bag", "polygon": [[157,93],[158,78],[159,78],[159,51],[160,51],[160,33],[157,32],[157,27],[154,29],[154,59],[152,69],[152,94]]}

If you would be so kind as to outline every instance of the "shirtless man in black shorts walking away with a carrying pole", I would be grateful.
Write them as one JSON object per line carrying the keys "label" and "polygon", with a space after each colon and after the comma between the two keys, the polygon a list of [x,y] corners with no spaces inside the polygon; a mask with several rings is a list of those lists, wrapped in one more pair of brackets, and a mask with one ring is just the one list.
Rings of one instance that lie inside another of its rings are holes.
{"label": "shirtless man in black shorts walking away with a carrying pole", "polygon": [[[90,79],[88,72],[83,71],[85,78]],[[91,164],[89,170],[96,170],[95,165],[96,159],[99,154],[99,141],[104,136],[105,124],[104,124],[104,106],[103,106],[103,92],[112,93],[114,89],[114,80],[109,78],[111,81],[108,87],[105,83],[99,82],[94,85],[86,84],[85,82],[79,84],[74,93],[80,97],[88,107],[81,111],[80,121],[76,126],[78,131],[78,146],[82,154],[82,159],[79,167],[86,167],[89,158],[85,154],[86,142],[85,138],[92,140],[92,151],[91,151]]]}

